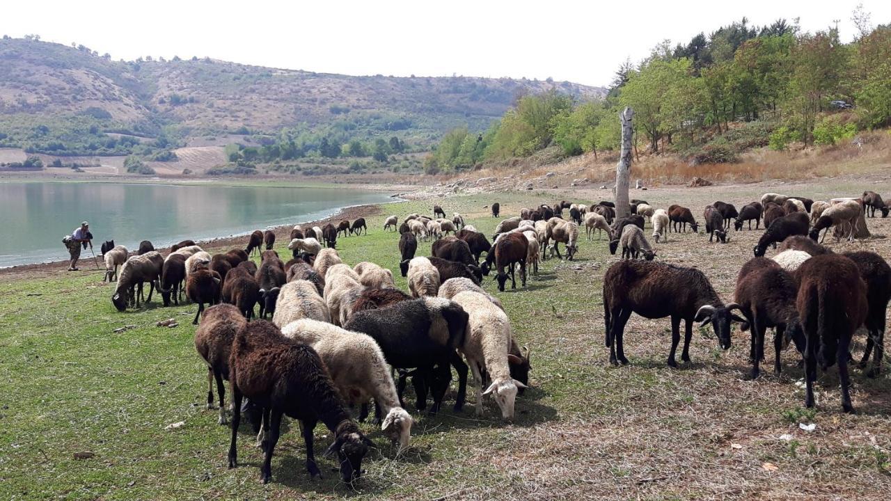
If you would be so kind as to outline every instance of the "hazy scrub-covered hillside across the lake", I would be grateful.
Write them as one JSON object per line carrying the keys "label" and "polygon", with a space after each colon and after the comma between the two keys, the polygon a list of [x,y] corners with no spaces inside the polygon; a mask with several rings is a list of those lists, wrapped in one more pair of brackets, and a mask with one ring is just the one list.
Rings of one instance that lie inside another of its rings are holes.
{"label": "hazy scrub-covered hillside across the lake", "polygon": [[39,124],[71,129],[80,119],[99,122],[99,132],[185,139],[376,120],[379,128],[428,144],[449,127],[486,127],[520,94],[605,94],[600,87],[512,78],[352,77],[198,58],[114,62],[86,47],[16,38],[0,40],[0,66],[0,132],[10,136],[6,145],[21,147],[11,139],[27,143],[25,131]]}

